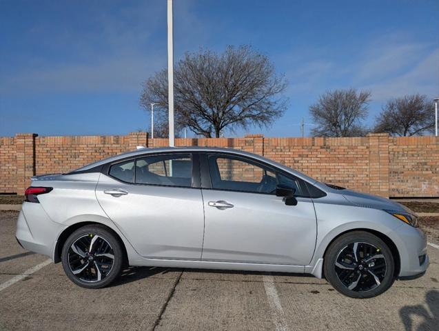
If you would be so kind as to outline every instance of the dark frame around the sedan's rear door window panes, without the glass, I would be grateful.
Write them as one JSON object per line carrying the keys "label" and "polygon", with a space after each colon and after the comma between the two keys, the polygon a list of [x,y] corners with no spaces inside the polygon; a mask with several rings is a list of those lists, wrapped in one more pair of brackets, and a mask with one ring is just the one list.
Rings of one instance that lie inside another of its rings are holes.
{"label": "dark frame around the sedan's rear door window panes, without the glass", "polygon": [[[119,181],[121,183],[125,183],[128,185],[143,185],[143,186],[159,186],[159,187],[165,187],[165,188],[195,188],[200,189],[201,188],[201,180],[200,180],[200,162],[199,162],[199,152],[159,152],[159,153],[145,153],[145,154],[139,154],[131,157],[125,157],[123,159],[119,159],[116,161],[112,161],[109,163],[105,163],[101,168],[101,173],[105,174],[106,176],[110,177],[111,179],[114,179],[115,181]],[[181,185],[163,185],[163,184],[150,184],[150,183],[136,183],[136,161],[138,159],[144,159],[145,157],[159,157],[159,156],[165,156],[165,155],[189,155],[191,159],[191,168],[192,168],[192,174],[191,174],[191,186],[181,186]],[[134,161],[134,174],[133,174],[133,182],[129,181],[123,181],[119,178],[116,178],[110,174],[110,168],[112,165],[116,165],[118,163],[125,163],[127,161]]]}

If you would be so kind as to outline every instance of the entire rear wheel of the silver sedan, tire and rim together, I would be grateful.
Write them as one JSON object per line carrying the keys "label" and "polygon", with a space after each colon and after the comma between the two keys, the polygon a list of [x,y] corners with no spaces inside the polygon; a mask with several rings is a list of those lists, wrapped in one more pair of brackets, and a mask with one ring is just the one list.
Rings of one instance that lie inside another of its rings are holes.
{"label": "entire rear wheel of the silver sedan, tire and rim together", "polygon": [[[91,253],[88,251],[90,245]],[[104,288],[117,279],[123,260],[121,242],[103,225],[85,225],[75,230],[65,241],[61,254],[68,278],[76,285],[90,289]]]}

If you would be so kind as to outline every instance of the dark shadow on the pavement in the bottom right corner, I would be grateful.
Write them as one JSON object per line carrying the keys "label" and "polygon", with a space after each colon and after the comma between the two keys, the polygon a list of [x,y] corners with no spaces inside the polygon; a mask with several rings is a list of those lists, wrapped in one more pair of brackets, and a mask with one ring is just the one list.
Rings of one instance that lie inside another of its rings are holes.
{"label": "dark shadow on the pavement in the bottom right corner", "polygon": [[[400,318],[406,331],[438,330],[439,325],[439,291],[430,290],[425,294],[425,304],[406,305],[400,309]],[[414,328],[413,317],[423,319],[418,328]]]}

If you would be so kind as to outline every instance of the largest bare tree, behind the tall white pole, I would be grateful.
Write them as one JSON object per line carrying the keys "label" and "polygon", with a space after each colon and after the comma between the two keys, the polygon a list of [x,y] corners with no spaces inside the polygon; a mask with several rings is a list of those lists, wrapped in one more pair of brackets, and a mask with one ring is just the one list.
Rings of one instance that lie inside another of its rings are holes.
{"label": "largest bare tree, behind the tall white pole", "polygon": [[[269,126],[285,111],[285,88],[268,57],[249,46],[228,46],[222,54],[187,52],[174,68],[176,125],[203,137]],[[145,81],[140,104],[147,110],[151,102],[167,110],[167,70]]]}

